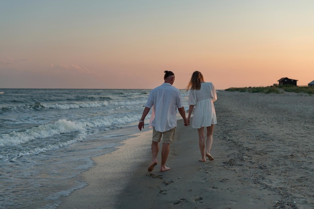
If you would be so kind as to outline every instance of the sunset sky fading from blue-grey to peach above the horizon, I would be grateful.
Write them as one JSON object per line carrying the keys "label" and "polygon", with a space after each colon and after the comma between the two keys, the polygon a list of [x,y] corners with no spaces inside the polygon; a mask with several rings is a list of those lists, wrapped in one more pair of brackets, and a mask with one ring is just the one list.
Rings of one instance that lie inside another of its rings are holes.
{"label": "sunset sky fading from blue-grey to peach above the horizon", "polygon": [[1,0],[0,88],[314,80],[314,0]]}

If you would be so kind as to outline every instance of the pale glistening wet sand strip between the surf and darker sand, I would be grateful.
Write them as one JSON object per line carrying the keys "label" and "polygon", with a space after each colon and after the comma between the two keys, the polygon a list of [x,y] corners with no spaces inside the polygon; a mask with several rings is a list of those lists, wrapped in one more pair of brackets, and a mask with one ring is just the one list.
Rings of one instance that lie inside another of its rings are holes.
{"label": "pale glistening wet sand strip between the surf and darker sand", "polygon": [[134,167],[150,160],[150,149],[143,147],[150,147],[151,133],[134,133],[116,150],[92,157],[95,165],[79,175],[88,184],[64,197],[57,208],[114,208],[118,194],[134,175]]}

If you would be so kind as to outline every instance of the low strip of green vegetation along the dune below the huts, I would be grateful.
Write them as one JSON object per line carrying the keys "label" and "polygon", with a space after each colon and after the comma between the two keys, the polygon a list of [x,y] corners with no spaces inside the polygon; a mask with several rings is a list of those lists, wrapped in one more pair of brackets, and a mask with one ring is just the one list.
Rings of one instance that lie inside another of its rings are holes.
{"label": "low strip of green vegetation along the dune below the huts", "polygon": [[242,87],[242,88],[231,87],[225,90],[251,92],[251,93],[283,93],[284,91],[287,91],[287,92],[295,92],[295,93],[314,94],[314,87],[296,86],[296,85],[277,85],[277,84],[274,84],[272,86],[266,86],[266,87]]}

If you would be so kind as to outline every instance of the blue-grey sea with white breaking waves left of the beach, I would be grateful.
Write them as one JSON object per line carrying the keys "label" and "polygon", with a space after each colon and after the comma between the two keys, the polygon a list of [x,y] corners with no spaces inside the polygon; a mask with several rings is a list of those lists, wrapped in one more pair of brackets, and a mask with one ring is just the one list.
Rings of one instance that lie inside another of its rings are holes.
{"label": "blue-grey sea with white breaking waves left of the beach", "polygon": [[[56,208],[84,187],[78,175],[93,166],[91,157],[139,132],[149,92],[0,89],[0,208]],[[188,92],[181,95],[187,110]]]}

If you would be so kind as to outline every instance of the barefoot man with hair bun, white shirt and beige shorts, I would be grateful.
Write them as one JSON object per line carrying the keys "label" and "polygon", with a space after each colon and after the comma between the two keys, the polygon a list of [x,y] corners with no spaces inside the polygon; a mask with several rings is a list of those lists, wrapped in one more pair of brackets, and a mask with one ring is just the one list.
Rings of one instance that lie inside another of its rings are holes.
{"label": "barefoot man with hair bun, white shirt and beige shorts", "polygon": [[170,150],[170,143],[173,143],[175,138],[177,108],[184,119],[184,125],[188,125],[180,90],[172,85],[175,81],[175,74],[172,71],[166,70],[164,80],[165,82],[162,85],[151,90],[142,117],[138,123],[139,130],[144,128],[145,116],[148,114],[150,108],[153,107],[151,114],[154,117],[151,122],[151,126],[153,126],[151,142],[152,162],[148,166],[148,172],[151,172],[158,163],[157,155],[162,135],[164,137],[161,171],[170,169],[170,167],[166,166],[166,161]]}

